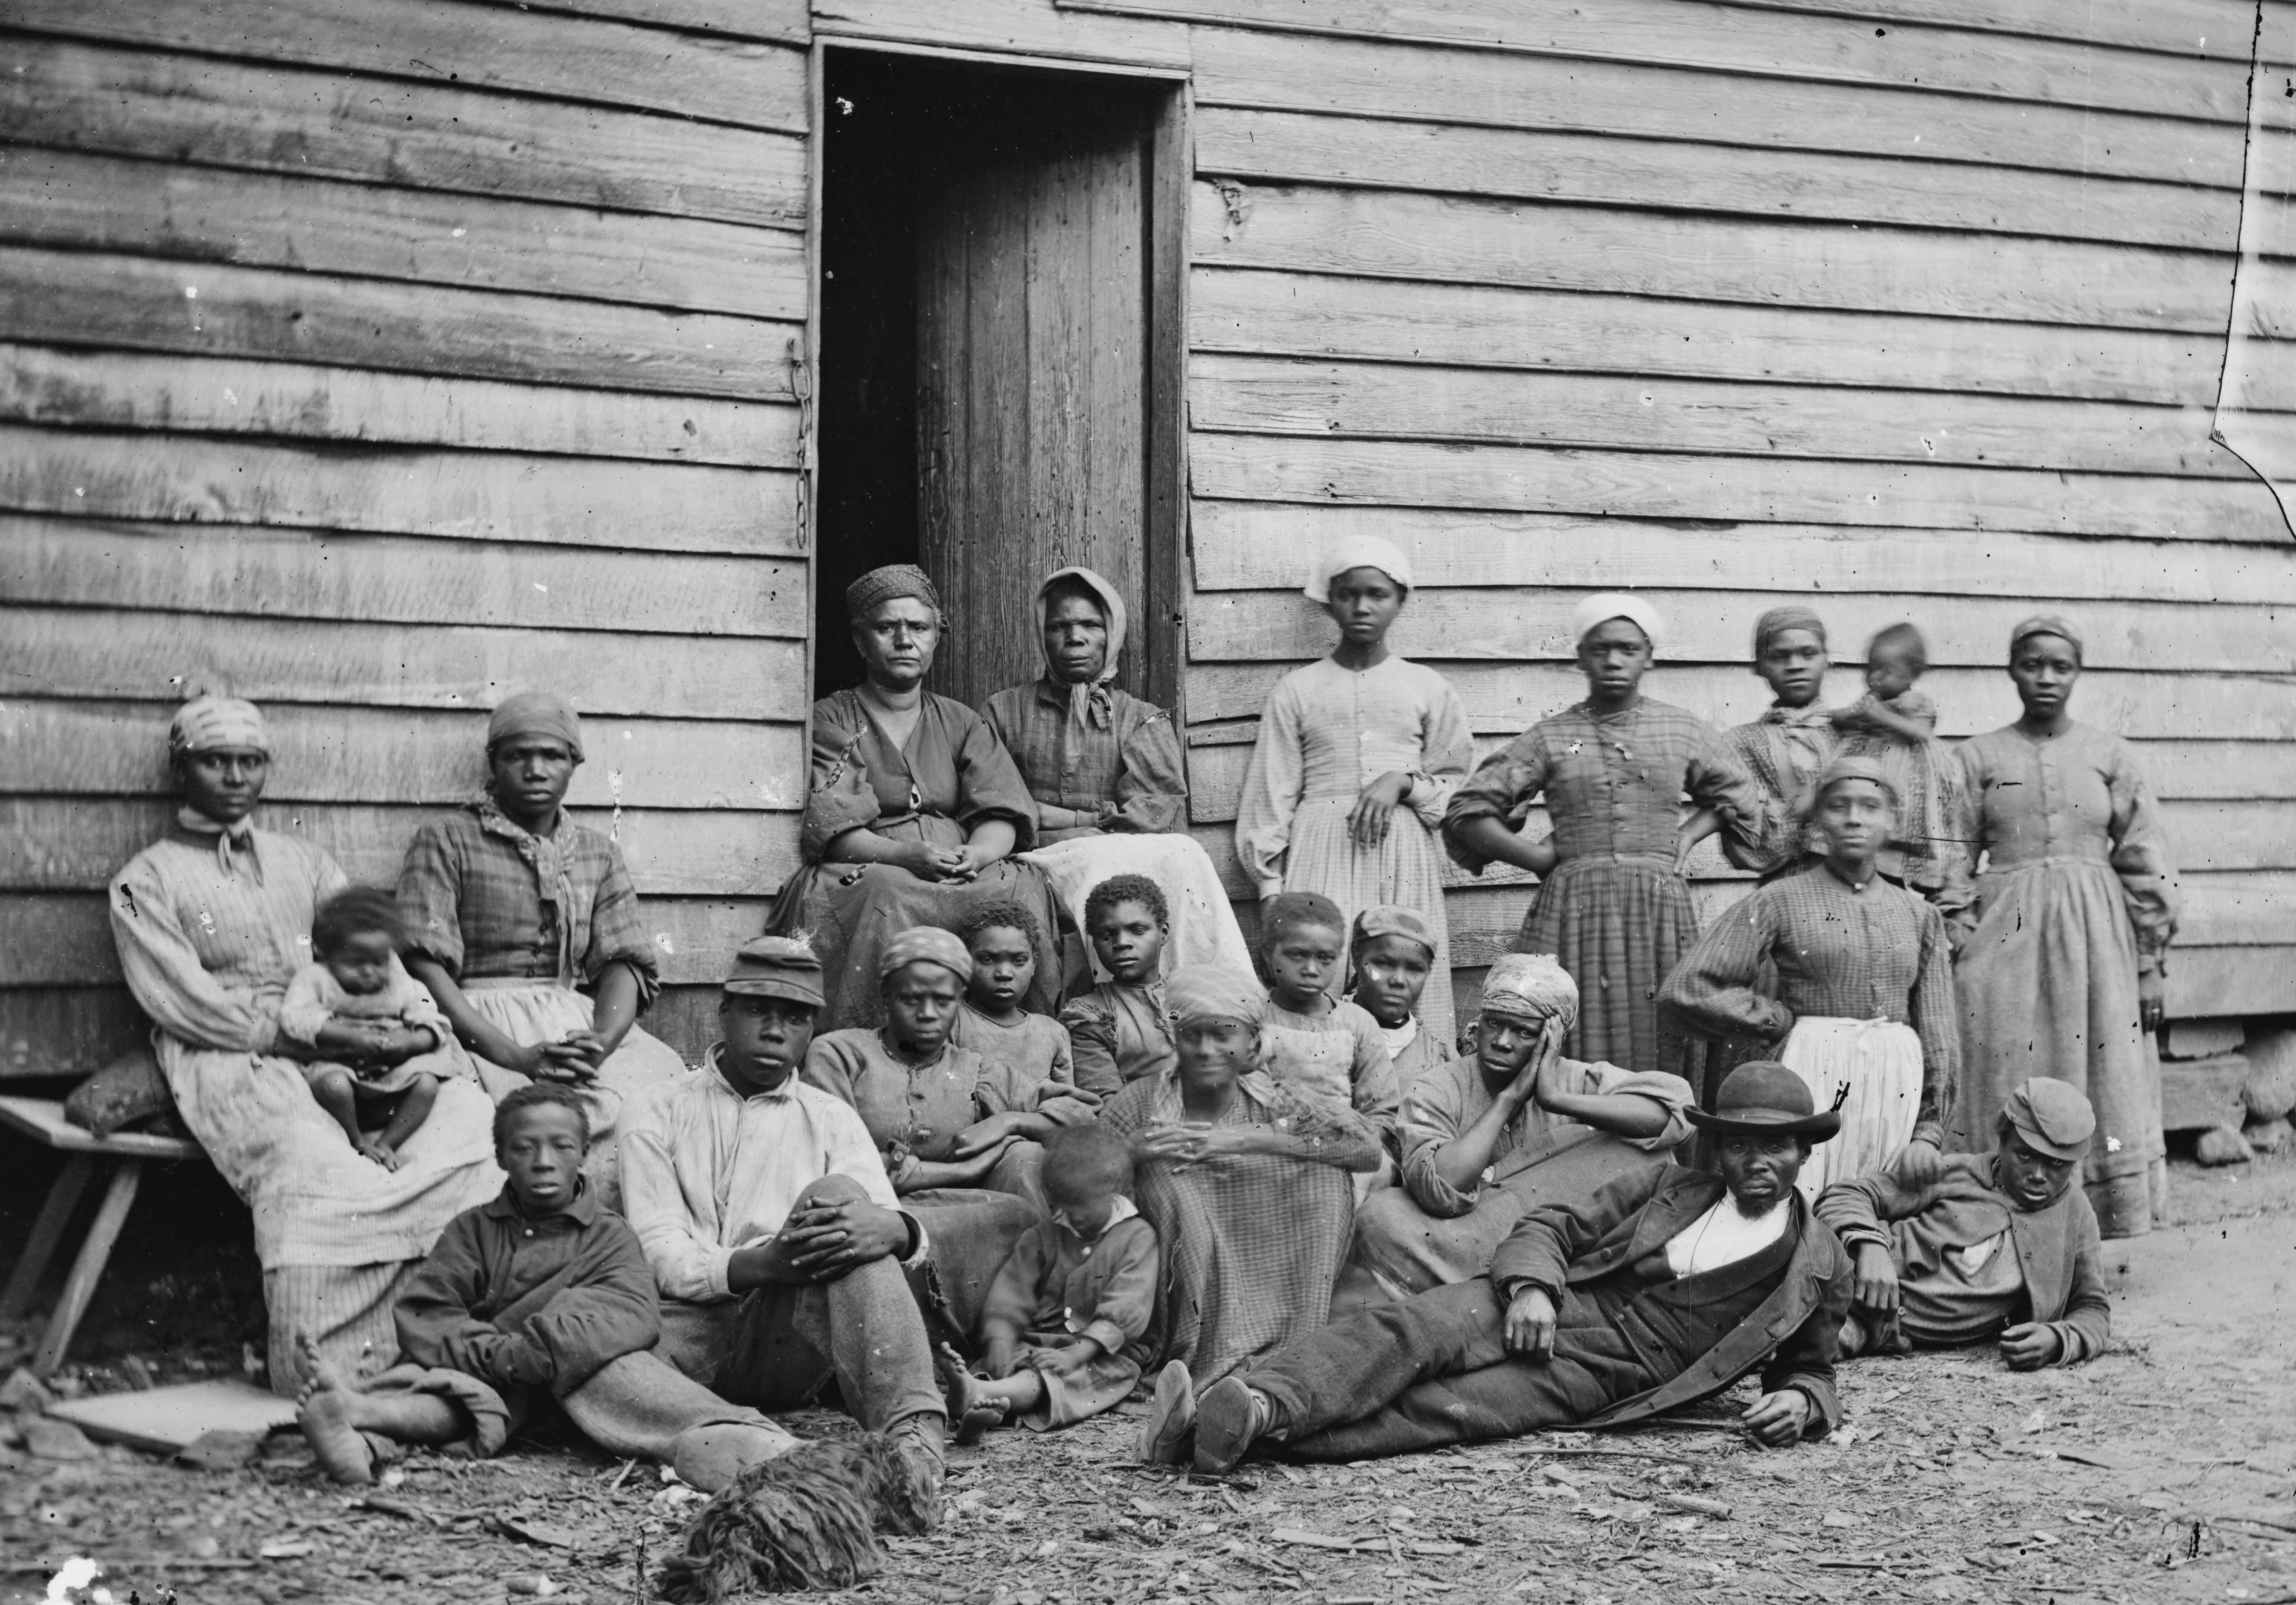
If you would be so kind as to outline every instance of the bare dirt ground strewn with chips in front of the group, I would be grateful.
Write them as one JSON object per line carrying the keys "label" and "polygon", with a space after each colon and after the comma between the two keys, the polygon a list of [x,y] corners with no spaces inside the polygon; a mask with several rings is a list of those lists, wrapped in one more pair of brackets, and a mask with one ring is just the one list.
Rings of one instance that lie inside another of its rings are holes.
{"label": "bare dirt ground strewn with chips in front of the group", "polygon": [[[2177,1166],[2172,1219],[2105,1245],[2108,1355],[2041,1375],[1988,1352],[1857,1362],[1828,1444],[1669,1426],[1205,1483],[1127,1465],[1137,1417],[996,1433],[953,1460],[944,1529],[891,1541],[847,1598],[2289,1603],[2296,1162]],[[797,1428],[847,1430],[822,1412]],[[73,1554],[103,1564],[119,1605],[622,1603],[650,1598],[641,1580],[693,1499],[581,1447],[418,1456],[367,1497],[324,1483],[294,1440],[230,1472],[14,1447],[0,1603],[48,1598]]]}

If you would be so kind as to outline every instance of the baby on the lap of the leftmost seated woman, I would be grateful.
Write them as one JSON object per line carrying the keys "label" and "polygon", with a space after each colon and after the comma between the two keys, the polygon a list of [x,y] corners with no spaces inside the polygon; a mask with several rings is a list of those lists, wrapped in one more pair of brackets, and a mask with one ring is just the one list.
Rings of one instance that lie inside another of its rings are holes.
{"label": "baby on the lap of the leftmost seated woman", "polygon": [[[347,886],[310,923],[317,962],[280,999],[280,1036],[319,1059],[303,1079],[351,1146],[400,1169],[400,1148],[422,1130],[439,1081],[461,1072],[439,1003],[400,962],[400,905],[379,886]],[[409,1047],[422,1047],[409,1056]]]}

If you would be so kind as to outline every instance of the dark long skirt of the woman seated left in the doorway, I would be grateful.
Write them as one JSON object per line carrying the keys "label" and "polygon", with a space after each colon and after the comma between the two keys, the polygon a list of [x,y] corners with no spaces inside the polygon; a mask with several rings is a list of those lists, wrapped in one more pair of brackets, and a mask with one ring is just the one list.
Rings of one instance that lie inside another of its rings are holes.
{"label": "dark long skirt of the woman seated left in the doorway", "polygon": [[1054,946],[1061,914],[1052,882],[1033,863],[1003,859],[964,884],[918,879],[891,863],[808,863],[781,889],[767,928],[783,937],[804,932],[813,941],[827,992],[815,1031],[843,1031],[884,1024],[877,955],[886,941],[916,925],[955,930],[992,902],[1017,902],[1038,923],[1035,978],[1022,1008],[1031,1015],[1061,1013],[1061,951]]}

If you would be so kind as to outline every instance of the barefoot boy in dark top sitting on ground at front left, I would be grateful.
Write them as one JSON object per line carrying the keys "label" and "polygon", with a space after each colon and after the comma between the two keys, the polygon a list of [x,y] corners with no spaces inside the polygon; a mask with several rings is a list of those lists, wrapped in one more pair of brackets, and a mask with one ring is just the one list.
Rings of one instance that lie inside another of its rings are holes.
{"label": "barefoot boy in dark top sitting on ground at front left", "polygon": [[707,1488],[794,1442],[650,1352],[654,1272],[583,1178],[588,1150],[581,1093],[521,1086],[494,1114],[510,1183],[448,1222],[397,1302],[402,1362],[356,1387],[298,1336],[310,1385],[296,1419],[335,1481],[372,1483],[404,1444],[491,1456],[558,1410],[599,1447],[670,1460]]}

